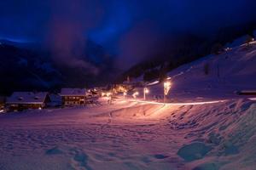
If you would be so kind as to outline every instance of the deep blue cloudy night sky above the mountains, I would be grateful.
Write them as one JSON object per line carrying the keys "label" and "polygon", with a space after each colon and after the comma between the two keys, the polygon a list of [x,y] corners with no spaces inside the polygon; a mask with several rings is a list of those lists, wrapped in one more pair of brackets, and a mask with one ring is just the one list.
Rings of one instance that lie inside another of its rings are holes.
{"label": "deep blue cloudy night sky above the mountains", "polygon": [[0,38],[64,54],[90,39],[128,68],[165,37],[209,37],[222,26],[255,20],[255,8],[255,0],[8,0],[0,2]]}

